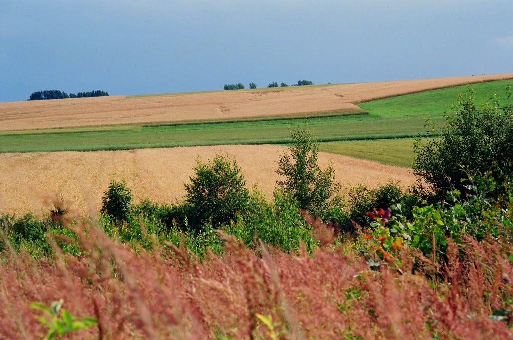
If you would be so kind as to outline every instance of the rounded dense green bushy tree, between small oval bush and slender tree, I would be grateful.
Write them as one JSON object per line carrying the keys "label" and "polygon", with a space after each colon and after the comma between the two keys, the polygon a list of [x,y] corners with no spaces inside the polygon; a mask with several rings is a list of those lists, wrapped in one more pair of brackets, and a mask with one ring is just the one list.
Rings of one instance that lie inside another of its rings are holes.
{"label": "rounded dense green bushy tree, between small oval bush and slender tree", "polygon": [[208,163],[198,161],[189,179],[190,183],[185,184],[186,203],[196,227],[209,222],[219,226],[247,207],[249,190],[236,161],[230,162],[222,155]]}

